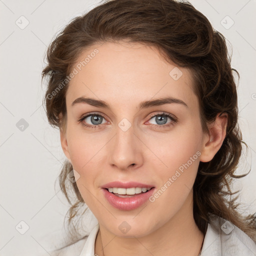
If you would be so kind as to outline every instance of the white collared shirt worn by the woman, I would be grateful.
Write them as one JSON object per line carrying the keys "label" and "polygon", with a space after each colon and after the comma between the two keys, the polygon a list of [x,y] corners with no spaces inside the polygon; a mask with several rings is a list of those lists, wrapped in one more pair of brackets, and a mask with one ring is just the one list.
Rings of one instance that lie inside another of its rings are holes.
{"label": "white collared shirt worn by the woman", "polygon": [[[219,218],[208,223],[204,237],[201,256],[256,256],[256,243],[237,226]],[[94,246],[98,223],[88,236],[57,251],[49,251],[51,256],[94,256]]]}

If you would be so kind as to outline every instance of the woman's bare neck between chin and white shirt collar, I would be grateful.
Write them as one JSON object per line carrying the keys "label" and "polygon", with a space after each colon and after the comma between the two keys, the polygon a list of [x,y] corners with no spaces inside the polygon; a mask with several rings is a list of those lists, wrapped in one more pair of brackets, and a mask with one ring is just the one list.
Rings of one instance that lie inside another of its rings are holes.
{"label": "woman's bare neck between chin and white shirt collar", "polygon": [[[119,237],[99,224],[95,240],[95,255],[98,256],[140,256],[175,255],[197,256],[199,254],[203,233],[193,219],[193,203],[189,195],[188,202],[163,226],[140,237]],[[103,248],[103,249],[102,249]]]}

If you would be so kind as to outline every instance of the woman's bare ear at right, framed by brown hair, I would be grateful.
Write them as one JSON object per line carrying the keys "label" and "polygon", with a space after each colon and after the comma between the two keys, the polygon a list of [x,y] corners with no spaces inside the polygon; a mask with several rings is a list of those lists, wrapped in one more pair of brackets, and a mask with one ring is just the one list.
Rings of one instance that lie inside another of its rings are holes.
{"label": "woman's bare ear at right, framed by brown hair", "polygon": [[221,147],[226,136],[227,113],[218,113],[216,120],[208,125],[209,135],[204,134],[200,161],[210,161]]}

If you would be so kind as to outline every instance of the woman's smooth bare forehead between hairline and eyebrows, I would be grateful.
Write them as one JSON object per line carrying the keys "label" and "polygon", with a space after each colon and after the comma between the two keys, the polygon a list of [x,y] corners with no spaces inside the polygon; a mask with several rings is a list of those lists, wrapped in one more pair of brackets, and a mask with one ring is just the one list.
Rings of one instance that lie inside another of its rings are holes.
{"label": "woman's smooth bare forehead between hairline and eyebrows", "polygon": [[77,73],[69,82],[69,105],[85,95],[123,104],[168,95],[188,104],[196,100],[190,71],[164,60],[153,46],[125,41],[94,44],[73,67]]}

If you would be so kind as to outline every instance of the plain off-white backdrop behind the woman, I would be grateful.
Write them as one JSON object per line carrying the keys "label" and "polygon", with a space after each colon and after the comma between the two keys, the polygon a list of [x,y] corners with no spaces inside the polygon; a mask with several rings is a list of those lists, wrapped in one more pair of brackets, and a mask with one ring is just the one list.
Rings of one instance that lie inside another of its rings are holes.
{"label": "plain off-white backdrop behind the woman", "polygon": [[[190,2],[232,46],[232,67],[240,73],[239,124],[249,147],[236,173],[251,167],[234,188],[241,189],[242,211],[255,212],[256,1]],[[0,256],[45,253],[49,235],[63,229],[68,205],[54,182],[65,157],[58,130],[47,123],[42,107],[43,56],[55,33],[98,3],[0,0]]]}

